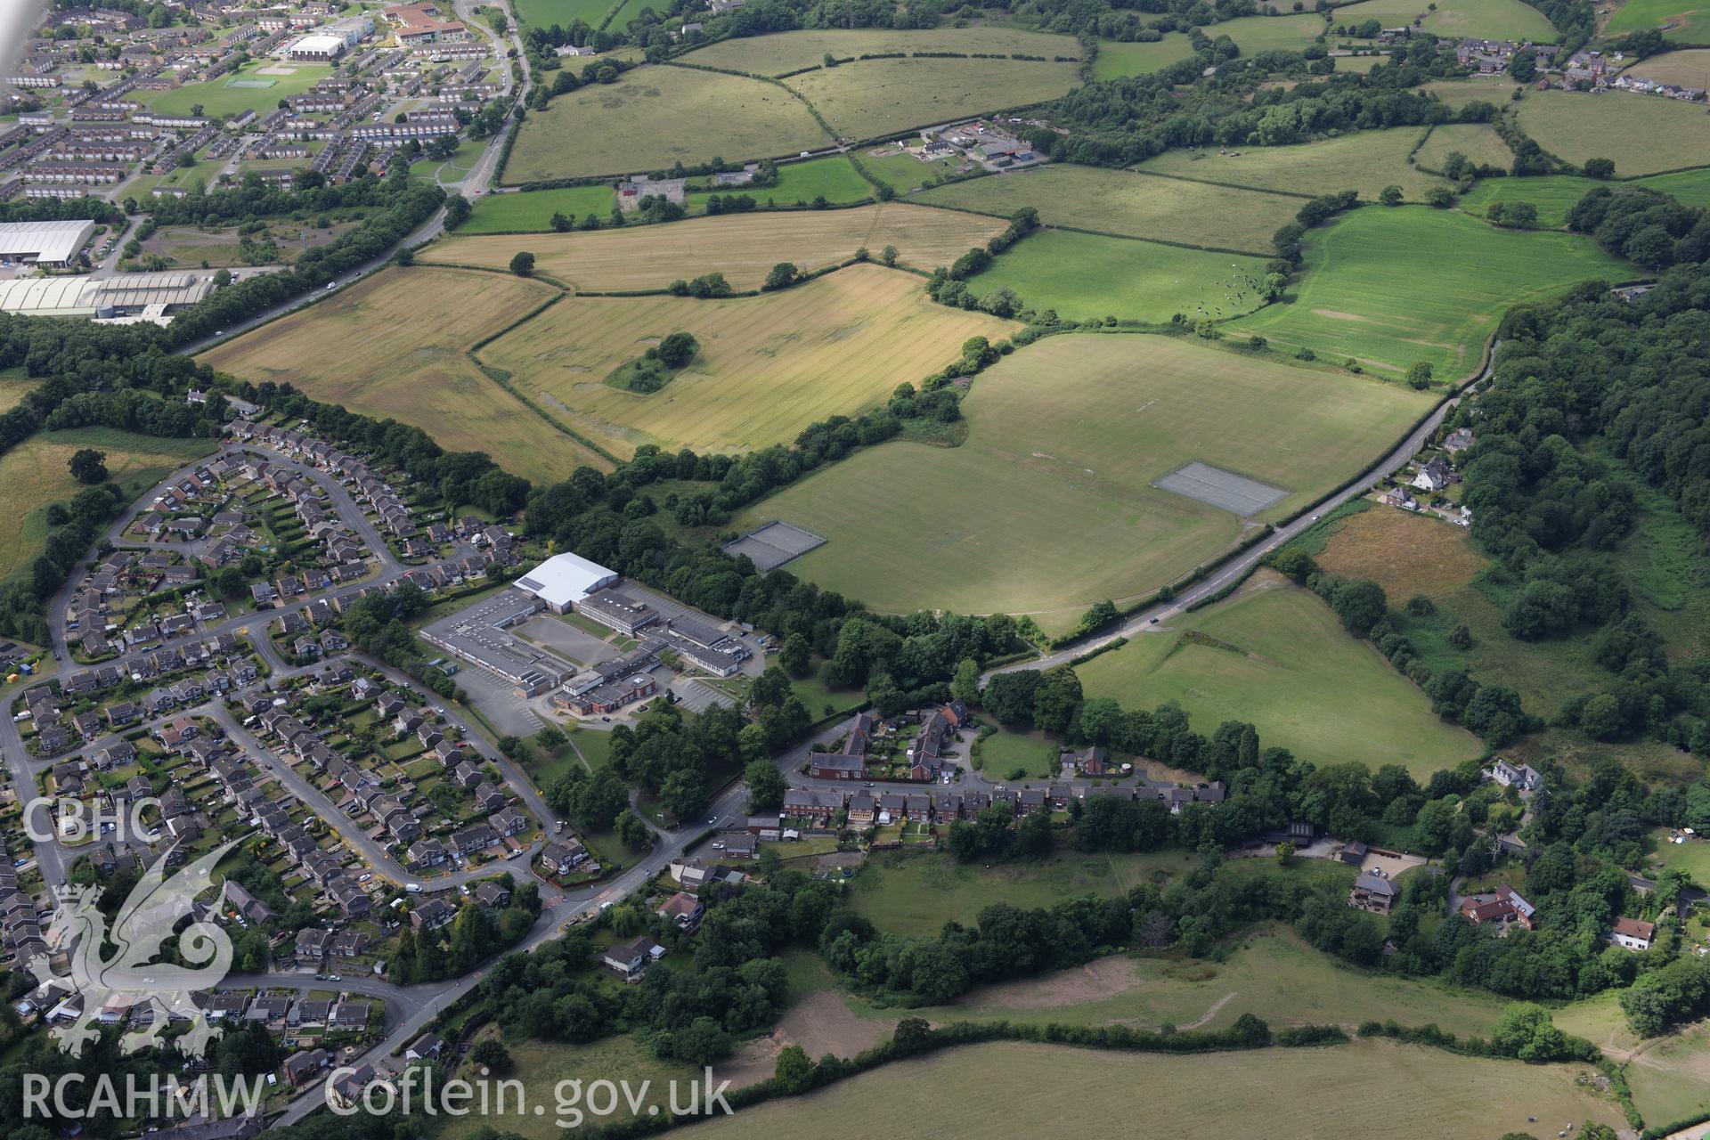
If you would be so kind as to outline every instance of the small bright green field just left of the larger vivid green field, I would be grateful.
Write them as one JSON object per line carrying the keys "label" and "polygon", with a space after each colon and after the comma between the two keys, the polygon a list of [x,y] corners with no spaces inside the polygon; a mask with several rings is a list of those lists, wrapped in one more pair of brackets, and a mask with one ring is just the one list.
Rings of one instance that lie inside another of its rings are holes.
{"label": "small bright green field just left of the larger vivid green field", "polygon": [[1117,316],[1163,325],[1176,313],[1223,320],[1259,308],[1267,260],[1047,229],[995,258],[968,287],[980,296],[1014,289],[1029,308],[1077,321]]}

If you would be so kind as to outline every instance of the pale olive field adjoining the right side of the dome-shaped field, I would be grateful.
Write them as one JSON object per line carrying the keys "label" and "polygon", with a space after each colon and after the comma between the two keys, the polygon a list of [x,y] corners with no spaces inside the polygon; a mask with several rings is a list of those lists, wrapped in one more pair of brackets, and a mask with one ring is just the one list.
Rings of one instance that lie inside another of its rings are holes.
{"label": "pale olive field adjoining the right side of the dome-shaped field", "polygon": [[[864,60],[783,82],[812,103],[840,138],[860,140],[1055,99],[1079,84],[1077,67],[1031,60]],[[730,150],[725,149],[727,159]]]}

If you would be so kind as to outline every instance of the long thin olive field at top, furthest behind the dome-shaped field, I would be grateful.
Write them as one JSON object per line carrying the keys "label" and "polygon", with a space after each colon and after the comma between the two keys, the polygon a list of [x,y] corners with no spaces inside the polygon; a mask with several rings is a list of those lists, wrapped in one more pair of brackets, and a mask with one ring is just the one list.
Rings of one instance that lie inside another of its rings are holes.
{"label": "long thin olive field at top, furthest behind the dome-shaped field", "polygon": [[[963,55],[1041,55],[1079,58],[1081,44],[1074,36],[1029,32],[1016,27],[935,27],[923,31],[889,29],[826,29],[775,32],[771,36],[742,36],[706,48],[696,48],[684,58],[701,67],[723,67],[751,75],[783,75],[804,67],[817,67],[831,53],[838,68],[862,68],[874,60],[864,55],[893,51],[961,51]],[[942,60],[940,60],[942,62]]]}

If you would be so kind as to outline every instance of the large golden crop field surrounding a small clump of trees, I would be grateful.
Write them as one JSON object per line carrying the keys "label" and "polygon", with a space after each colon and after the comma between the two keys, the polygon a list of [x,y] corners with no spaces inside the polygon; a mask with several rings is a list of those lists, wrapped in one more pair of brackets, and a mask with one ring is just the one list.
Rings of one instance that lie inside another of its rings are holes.
{"label": "large golden crop field surrounding a small clump of trees", "polygon": [[[1017,328],[932,304],[920,280],[852,265],[759,297],[566,297],[481,350],[532,400],[610,451],[746,451],[793,439],[829,415],[882,403],[961,354],[968,337]],[[604,383],[657,338],[701,350],[669,385],[636,395]]]}

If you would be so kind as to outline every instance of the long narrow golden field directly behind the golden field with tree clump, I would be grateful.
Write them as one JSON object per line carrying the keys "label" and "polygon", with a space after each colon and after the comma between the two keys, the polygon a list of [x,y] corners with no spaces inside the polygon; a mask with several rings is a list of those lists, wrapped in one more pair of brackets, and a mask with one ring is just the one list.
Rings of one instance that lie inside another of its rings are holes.
{"label": "long narrow golden field directly behind the golden field with tree clump", "polygon": [[734,214],[667,226],[595,229],[575,234],[491,234],[436,241],[419,261],[504,268],[518,250],[535,255],[535,272],[588,292],[663,289],[674,280],[720,272],[732,289],[759,289],[778,261],[824,268],[865,246],[877,258],[896,246],[917,268],[949,265],[983,246],[1007,222],[918,205],[852,210]]}

